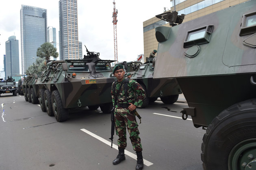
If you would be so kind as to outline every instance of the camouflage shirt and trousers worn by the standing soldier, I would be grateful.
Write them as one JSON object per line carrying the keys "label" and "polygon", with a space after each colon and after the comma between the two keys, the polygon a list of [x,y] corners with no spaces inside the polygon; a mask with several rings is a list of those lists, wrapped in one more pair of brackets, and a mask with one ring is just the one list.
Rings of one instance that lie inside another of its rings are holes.
{"label": "camouflage shirt and trousers worn by the standing soldier", "polygon": [[[115,84],[115,82],[113,82],[113,84]],[[113,84],[112,84],[112,89],[113,89]],[[121,85],[121,82],[116,83],[115,95],[117,95],[120,85]],[[137,98],[136,98],[136,94],[137,94]],[[111,96],[112,96],[112,101],[114,105],[115,96],[114,96],[113,90],[111,90]],[[144,98],[145,98],[145,91],[143,90],[141,85],[137,83],[135,80],[129,79],[128,89],[127,89],[127,101],[125,101],[124,84],[123,84],[117,99],[117,103],[121,103],[121,104],[133,103],[137,107],[140,107],[143,103]],[[121,107],[118,107],[118,105],[115,105],[114,115],[115,115],[115,129],[116,129],[117,135],[119,136],[119,139],[117,140],[118,147],[126,148],[126,145],[127,145],[126,127],[127,127],[127,130],[130,134],[130,140],[132,142],[133,150],[137,152],[142,151],[141,139],[139,138],[139,129],[138,129],[138,124],[135,118],[134,111],[130,112],[128,108],[121,108]]]}

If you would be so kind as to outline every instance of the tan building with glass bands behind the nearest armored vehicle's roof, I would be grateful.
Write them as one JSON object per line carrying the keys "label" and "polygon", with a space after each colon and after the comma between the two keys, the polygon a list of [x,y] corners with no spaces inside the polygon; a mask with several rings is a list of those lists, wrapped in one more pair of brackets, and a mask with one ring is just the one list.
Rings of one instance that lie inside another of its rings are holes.
{"label": "tan building with glass bands behind the nearest armored vehicle's roof", "polygon": [[[186,16],[183,22],[187,22],[245,1],[247,0],[171,0],[170,11],[177,11],[178,15],[185,14]],[[158,13],[156,13],[156,15],[158,15]],[[155,28],[158,26],[170,25],[156,17],[143,22],[145,58],[148,57],[154,49],[157,50],[158,48],[158,42],[155,36]]]}

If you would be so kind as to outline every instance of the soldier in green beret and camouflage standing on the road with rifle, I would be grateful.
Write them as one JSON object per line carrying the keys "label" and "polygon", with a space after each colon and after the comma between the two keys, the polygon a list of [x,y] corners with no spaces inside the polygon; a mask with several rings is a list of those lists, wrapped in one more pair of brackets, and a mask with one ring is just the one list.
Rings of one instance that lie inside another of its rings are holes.
{"label": "soldier in green beret and camouflage standing on the road with rifle", "polygon": [[[139,83],[132,79],[125,79],[124,67],[116,65],[113,74],[117,81],[113,82],[111,96],[115,107],[115,130],[119,137],[117,140],[119,153],[113,164],[119,164],[125,159],[124,149],[126,148],[126,127],[130,134],[130,140],[133,150],[137,154],[136,170],[143,169],[143,157],[141,139],[139,138],[139,129],[135,117],[136,108],[142,105],[145,98],[145,91]],[[121,87],[120,87],[121,86]],[[126,89],[127,88],[127,89]],[[125,93],[125,91],[127,93]],[[119,94],[117,94],[119,92]],[[135,97],[137,95],[137,98]],[[115,102],[115,99],[117,100]],[[117,105],[115,105],[117,103]]]}

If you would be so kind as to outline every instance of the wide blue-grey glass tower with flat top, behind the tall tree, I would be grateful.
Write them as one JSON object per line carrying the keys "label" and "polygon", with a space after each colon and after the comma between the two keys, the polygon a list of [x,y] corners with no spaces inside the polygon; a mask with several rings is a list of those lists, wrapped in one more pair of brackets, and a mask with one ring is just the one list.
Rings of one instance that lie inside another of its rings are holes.
{"label": "wide blue-grey glass tower with flat top, behind the tall tree", "polygon": [[22,74],[35,62],[37,49],[46,42],[47,10],[22,5],[20,10]]}

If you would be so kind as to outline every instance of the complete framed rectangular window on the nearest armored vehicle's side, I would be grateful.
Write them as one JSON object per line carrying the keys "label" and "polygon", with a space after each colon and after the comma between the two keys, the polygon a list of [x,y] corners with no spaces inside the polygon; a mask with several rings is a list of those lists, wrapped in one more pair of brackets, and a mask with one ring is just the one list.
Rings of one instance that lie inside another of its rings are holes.
{"label": "complete framed rectangular window on the nearest armored vehicle's side", "polygon": [[210,42],[210,36],[213,32],[213,25],[204,26],[187,32],[183,47],[191,47]]}

